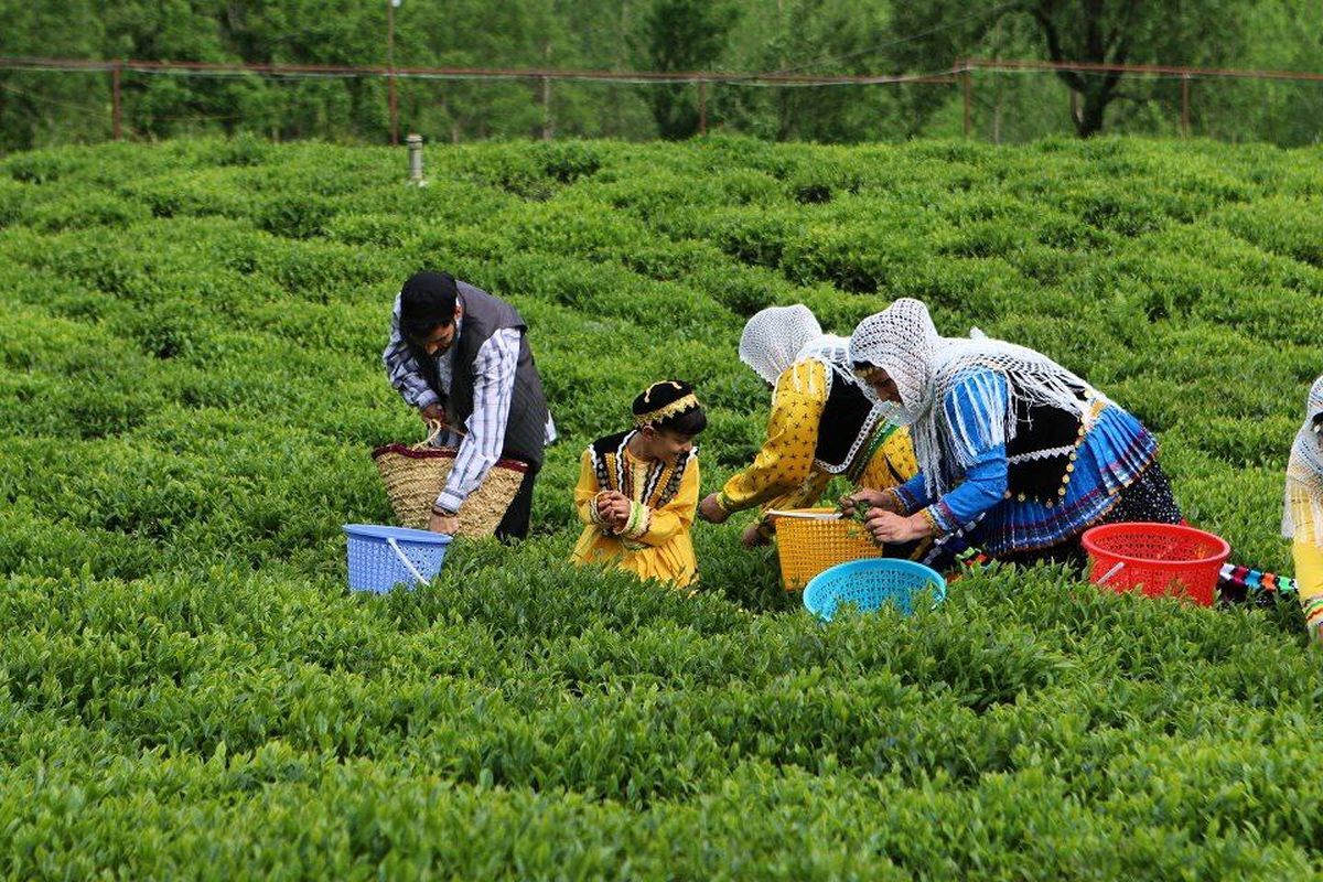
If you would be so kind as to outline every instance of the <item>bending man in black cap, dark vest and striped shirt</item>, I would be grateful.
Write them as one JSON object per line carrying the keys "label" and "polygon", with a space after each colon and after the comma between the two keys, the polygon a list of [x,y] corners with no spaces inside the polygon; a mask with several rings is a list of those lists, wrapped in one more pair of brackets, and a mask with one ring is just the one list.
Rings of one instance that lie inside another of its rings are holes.
{"label": "bending man in black cap, dark vest and striped shirt", "polygon": [[528,536],[533,481],[556,424],[527,331],[508,303],[446,272],[417,272],[396,298],[381,353],[386,377],[423,419],[446,423],[441,443],[459,448],[433,504],[427,529],[435,533],[459,529],[464,500],[508,458],[529,469],[496,536]]}

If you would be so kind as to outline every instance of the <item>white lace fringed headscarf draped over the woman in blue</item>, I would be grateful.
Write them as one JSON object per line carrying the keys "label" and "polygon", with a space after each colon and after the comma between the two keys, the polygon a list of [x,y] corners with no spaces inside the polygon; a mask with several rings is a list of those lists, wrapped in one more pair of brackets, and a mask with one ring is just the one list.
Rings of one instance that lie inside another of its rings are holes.
{"label": "white lace fringed headscarf draped over the woman in blue", "polygon": [[[953,423],[946,409],[937,406],[968,370],[1000,373],[1012,397],[1060,407],[1081,418],[1085,407],[1074,387],[1095,394],[1084,380],[1032,349],[994,340],[978,329],[963,340],[939,336],[927,307],[910,298],[864,319],[849,339],[849,358],[853,364],[881,368],[896,383],[901,401],[892,421],[910,426],[914,455],[934,497],[950,489],[974,464],[976,451],[1015,438],[1015,401],[1004,409],[995,403],[996,386],[991,382],[974,387],[972,421],[955,413]],[[943,444],[943,435],[953,443]]]}

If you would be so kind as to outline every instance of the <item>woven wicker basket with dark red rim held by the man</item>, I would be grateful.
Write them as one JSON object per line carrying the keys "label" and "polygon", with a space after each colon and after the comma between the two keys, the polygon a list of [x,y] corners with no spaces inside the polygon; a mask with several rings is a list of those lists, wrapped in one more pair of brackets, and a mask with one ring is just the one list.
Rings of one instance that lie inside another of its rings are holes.
{"label": "woven wicker basket with dark red rim held by the man", "polygon": [[[417,444],[386,444],[372,451],[401,526],[427,528],[433,502],[455,465],[458,451],[454,447],[433,447],[435,436],[434,428]],[[527,463],[496,460],[483,483],[459,508],[459,532],[455,536],[476,538],[495,533],[527,473]]]}

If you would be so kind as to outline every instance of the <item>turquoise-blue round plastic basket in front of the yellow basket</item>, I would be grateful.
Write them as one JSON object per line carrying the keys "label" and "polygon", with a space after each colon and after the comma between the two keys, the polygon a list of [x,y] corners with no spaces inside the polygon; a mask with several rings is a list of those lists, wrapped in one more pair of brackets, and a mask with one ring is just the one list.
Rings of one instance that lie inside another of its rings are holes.
{"label": "turquoise-blue round plastic basket in front of the yellow basket", "polygon": [[890,602],[909,615],[914,611],[914,596],[925,588],[933,591],[933,606],[946,599],[946,579],[922,563],[898,558],[851,561],[810,579],[804,586],[804,607],[824,621],[831,621],[841,603],[853,603],[860,612],[868,612]]}

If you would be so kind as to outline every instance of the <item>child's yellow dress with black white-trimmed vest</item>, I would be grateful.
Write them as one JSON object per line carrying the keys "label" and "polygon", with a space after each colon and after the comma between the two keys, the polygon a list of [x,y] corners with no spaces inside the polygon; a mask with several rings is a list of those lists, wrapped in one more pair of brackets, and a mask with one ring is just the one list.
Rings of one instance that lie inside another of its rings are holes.
{"label": "child's yellow dress with black white-trimmed vest", "polygon": [[[585,526],[570,559],[615,562],[640,579],[688,586],[699,570],[689,538],[699,506],[697,451],[675,465],[646,461],[628,451],[632,435],[610,435],[583,451],[574,505]],[[619,534],[597,516],[601,491],[617,491],[634,502],[630,522]]]}

